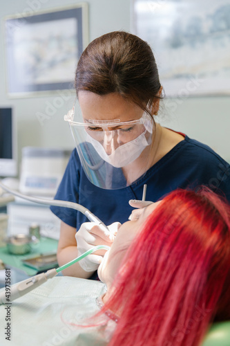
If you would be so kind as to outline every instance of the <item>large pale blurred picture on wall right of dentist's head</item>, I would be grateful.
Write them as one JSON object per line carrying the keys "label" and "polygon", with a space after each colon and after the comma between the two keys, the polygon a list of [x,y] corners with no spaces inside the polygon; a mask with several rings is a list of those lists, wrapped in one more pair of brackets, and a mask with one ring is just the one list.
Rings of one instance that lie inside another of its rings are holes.
{"label": "large pale blurred picture on wall right of dentist's head", "polygon": [[133,0],[132,12],[166,96],[230,94],[229,0]]}

